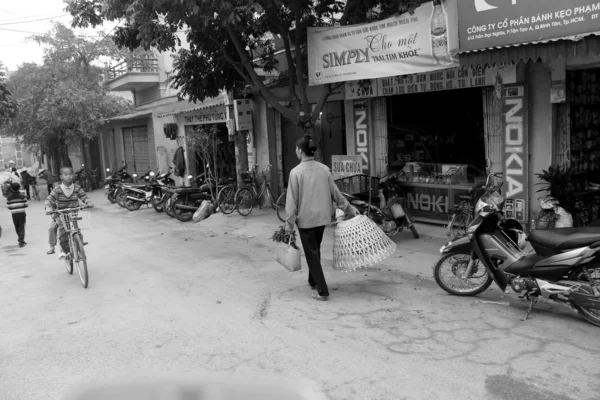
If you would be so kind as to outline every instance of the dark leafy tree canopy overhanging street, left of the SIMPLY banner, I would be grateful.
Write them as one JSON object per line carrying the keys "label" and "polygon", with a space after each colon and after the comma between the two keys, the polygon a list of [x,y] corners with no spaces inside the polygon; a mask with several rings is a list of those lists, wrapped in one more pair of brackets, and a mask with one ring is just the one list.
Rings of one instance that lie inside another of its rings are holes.
{"label": "dark leafy tree canopy overhanging street, left of the SIMPLY banner", "polygon": [[[192,101],[240,85],[261,95],[286,118],[310,130],[335,89],[325,85],[312,110],[307,86],[306,28],[360,23],[412,11],[423,0],[66,0],[74,26],[124,19],[115,41],[121,47],[177,51],[186,29],[189,49],[178,50],[174,84]],[[272,35],[280,35],[285,61]],[[276,95],[257,73],[278,69],[287,95]],[[288,102],[285,107],[281,102]]]}

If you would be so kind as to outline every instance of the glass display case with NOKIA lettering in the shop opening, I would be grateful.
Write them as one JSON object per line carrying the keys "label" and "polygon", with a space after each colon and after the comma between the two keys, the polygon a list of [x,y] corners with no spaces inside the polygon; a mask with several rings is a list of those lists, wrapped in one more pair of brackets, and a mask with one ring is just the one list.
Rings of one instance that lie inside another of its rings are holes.
{"label": "glass display case with NOKIA lettering in the shop opening", "polygon": [[406,203],[417,221],[448,223],[461,197],[473,200],[485,184],[484,171],[467,164],[409,162],[400,171],[399,181]]}

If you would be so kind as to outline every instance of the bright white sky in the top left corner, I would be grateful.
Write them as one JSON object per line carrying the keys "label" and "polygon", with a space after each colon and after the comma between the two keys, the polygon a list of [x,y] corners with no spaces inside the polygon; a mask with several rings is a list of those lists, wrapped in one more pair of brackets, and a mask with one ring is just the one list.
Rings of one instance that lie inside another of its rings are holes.
{"label": "bright white sky in the top left corner", "polygon": [[[0,61],[9,71],[15,71],[24,62],[42,62],[43,48],[28,37],[48,32],[53,21],[70,26],[71,16],[64,11],[65,6],[63,0],[0,1]],[[115,25],[116,22],[108,22],[96,29],[75,32],[98,36],[98,31],[110,32]]]}

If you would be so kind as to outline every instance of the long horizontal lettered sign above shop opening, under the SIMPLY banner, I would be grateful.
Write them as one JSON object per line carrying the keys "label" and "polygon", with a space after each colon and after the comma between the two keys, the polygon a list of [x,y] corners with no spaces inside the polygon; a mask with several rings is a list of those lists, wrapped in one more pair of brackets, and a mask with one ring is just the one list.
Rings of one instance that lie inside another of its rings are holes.
{"label": "long horizontal lettered sign above shop opening, under the SIMPLY banner", "polygon": [[[500,72],[501,71],[501,72]],[[517,77],[516,66],[498,68],[462,67],[423,74],[403,75],[382,78],[377,81],[380,96],[437,92],[441,90],[466,89],[493,86],[501,73],[503,83],[514,83]]]}

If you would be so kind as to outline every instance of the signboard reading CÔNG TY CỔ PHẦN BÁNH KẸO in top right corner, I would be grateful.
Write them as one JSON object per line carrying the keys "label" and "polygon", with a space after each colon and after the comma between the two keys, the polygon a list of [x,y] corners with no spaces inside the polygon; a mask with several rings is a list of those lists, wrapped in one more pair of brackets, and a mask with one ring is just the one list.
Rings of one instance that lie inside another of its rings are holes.
{"label": "signboard reading C\u00d4NG TY C\u1ed4 PH\u1ea6N B\u00c1NH K\u1eb8O in top right corner", "polygon": [[598,0],[461,0],[460,51],[600,31]]}

